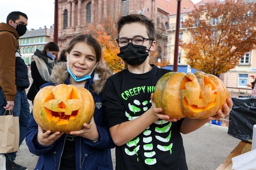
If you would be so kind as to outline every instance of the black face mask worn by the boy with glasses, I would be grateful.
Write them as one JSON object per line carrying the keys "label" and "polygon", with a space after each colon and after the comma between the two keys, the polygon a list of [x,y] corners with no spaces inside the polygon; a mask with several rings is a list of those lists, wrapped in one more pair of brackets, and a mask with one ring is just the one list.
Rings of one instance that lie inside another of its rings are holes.
{"label": "black face mask worn by the boy with glasses", "polygon": [[120,47],[120,53],[117,54],[124,60],[128,65],[140,65],[148,57],[148,52],[146,47],[142,45],[132,45],[128,43],[125,47]]}

